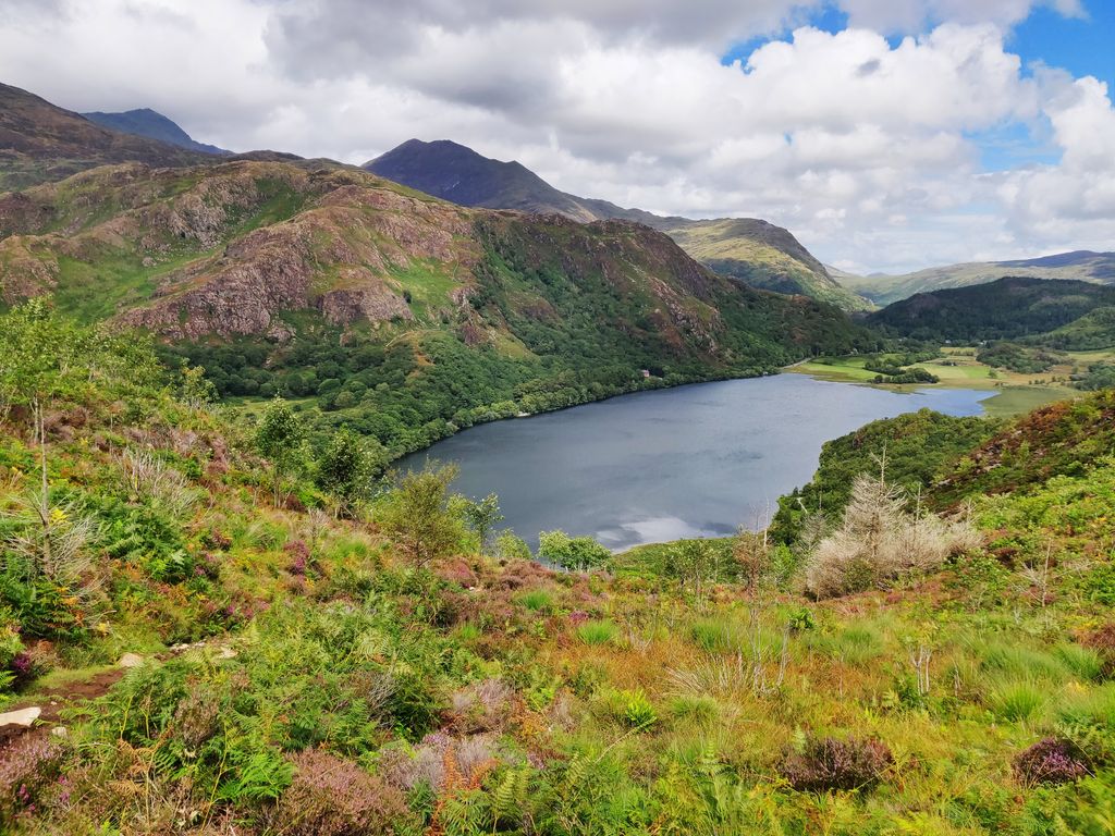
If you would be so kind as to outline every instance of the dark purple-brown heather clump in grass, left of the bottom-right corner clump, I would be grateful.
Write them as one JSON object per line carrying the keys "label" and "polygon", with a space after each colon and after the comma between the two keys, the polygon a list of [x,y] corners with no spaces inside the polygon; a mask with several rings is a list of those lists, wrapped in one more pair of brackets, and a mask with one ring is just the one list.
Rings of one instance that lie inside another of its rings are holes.
{"label": "dark purple-brown heather clump in grass, left of the bottom-right corner clump", "polygon": [[783,761],[782,776],[802,791],[866,789],[894,765],[886,743],[874,738],[807,738]]}

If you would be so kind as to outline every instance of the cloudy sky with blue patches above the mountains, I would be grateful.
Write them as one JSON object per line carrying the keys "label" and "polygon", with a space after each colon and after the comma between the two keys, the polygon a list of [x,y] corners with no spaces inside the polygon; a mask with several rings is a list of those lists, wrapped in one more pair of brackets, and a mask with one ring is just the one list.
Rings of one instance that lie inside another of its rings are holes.
{"label": "cloudy sky with blue patches above the mountains", "polygon": [[0,81],[363,163],[417,137],[851,272],[1115,250],[1115,0],[0,0]]}

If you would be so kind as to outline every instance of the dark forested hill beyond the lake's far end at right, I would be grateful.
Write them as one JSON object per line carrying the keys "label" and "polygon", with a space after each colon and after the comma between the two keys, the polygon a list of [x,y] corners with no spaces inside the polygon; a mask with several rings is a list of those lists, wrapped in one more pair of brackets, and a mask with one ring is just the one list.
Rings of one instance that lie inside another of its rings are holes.
{"label": "dark forested hill beyond the lake's far end at right", "polygon": [[1097,319],[1097,312],[1112,305],[1115,286],[1006,276],[988,284],[919,293],[870,314],[866,322],[904,337],[953,342],[1063,334],[1077,322],[1094,334],[1105,321]]}

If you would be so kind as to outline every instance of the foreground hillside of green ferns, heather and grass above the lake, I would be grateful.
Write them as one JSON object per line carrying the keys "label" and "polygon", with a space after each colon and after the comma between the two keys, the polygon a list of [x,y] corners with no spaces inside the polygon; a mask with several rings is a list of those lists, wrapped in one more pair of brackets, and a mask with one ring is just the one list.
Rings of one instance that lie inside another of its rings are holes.
{"label": "foreground hillside of green ferns, heather and grass above the lake", "polygon": [[1109,393],[964,419],[952,465],[950,419],[875,425],[826,448],[866,475],[809,537],[614,573],[39,301],[0,397],[0,670],[46,707],[0,741],[16,833],[1109,832]]}

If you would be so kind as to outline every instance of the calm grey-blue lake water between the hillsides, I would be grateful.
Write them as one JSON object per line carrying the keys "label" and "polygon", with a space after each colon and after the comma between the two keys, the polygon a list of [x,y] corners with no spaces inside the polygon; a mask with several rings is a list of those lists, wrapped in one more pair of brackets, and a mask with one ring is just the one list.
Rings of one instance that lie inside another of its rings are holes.
{"label": "calm grey-blue lake water between the hillsides", "polygon": [[804,375],[697,383],[481,425],[399,466],[459,464],[455,489],[497,494],[503,525],[532,547],[540,531],[561,528],[622,550],[759,527],[779,496],[809,480],[825,441],[922,407],[979,415],[992,395]]}

